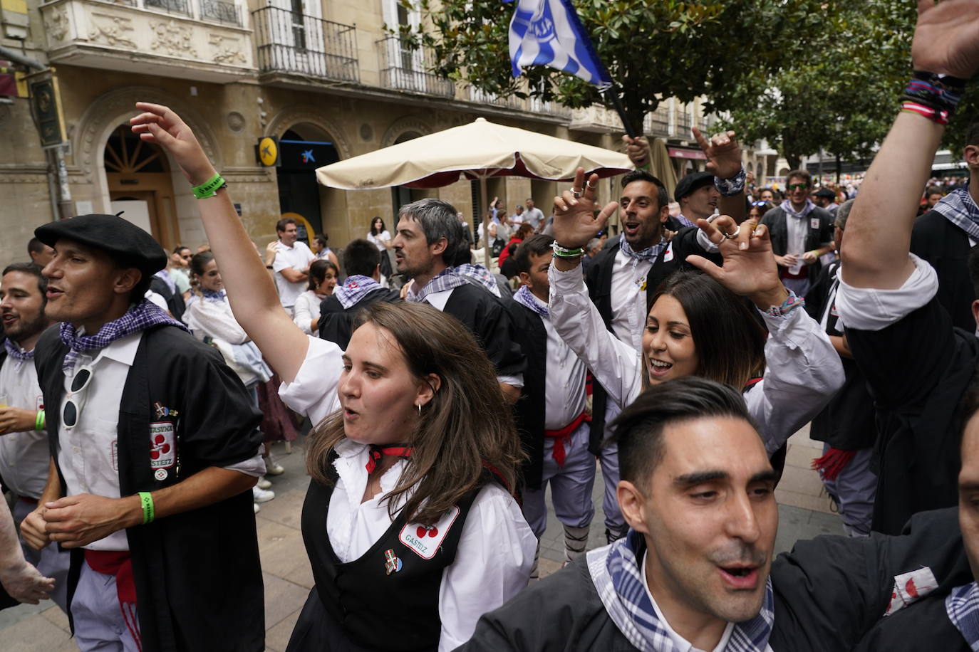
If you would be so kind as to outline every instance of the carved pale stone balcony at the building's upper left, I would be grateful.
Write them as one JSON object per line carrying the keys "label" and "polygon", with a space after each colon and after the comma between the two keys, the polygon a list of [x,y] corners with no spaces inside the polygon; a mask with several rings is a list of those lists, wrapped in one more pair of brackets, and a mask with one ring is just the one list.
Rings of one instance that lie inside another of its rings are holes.
{"label": "carved pale stone balcony at the building's upper left", "polygon": [[49,60],[226,83],[255,73],[244,4],[233,0],[51,0]]}

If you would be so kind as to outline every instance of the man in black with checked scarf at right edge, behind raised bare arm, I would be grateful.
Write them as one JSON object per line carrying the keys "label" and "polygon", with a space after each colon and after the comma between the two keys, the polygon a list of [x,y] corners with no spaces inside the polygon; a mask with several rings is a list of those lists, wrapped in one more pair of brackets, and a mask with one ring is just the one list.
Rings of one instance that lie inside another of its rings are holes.
{"label": "man in black with checked scarf at right edge, behind raised bare arm", "polygon": [[[967,259],[979,242],[979,122],[969,125],[962,159],[968,166],[969,180],[948,196],[941,191],[934,206],[914,223],[911,253],[927,261],[938,273],[938,301],[959,328],[972,330],[972,301],[979,294],[972,290]],[[931,189],[929,189],[931,190]],[[937,189],[935,189],[937,190]]]}

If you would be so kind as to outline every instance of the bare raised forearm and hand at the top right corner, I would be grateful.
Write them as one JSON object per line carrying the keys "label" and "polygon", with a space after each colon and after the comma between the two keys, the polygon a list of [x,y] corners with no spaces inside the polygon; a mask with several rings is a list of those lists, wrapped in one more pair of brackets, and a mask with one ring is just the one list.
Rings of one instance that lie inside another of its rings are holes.
{"label": "bare raised forearm and hand at the top right corner", "polygon": [[[919,0],[911,59],[915,70],[970,78],[979,67],[977,3]],[[896,289],[911,276],[911,228],[944,132],[943,125],[914,112],[895,118],[847,221],[840,252],[844,283]]]}

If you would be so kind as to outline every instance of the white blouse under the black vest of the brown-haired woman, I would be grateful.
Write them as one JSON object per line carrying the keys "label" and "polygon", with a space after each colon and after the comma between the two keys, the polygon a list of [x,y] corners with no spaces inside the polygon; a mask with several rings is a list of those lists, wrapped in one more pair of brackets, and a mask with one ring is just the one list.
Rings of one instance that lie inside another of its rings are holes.
{"label": "white blouse under the black vest of the brown-haired woman", "polygon": [[[307,414],[313,423],[339,409],[341,355],[335,343],[310,337],[295,380],[282,383],[279,390],[283,402]],[[391,527],[388,501],[383,496],[395,488],[406,465],[404,460],[396,461],[381,476],[381,494],[361,502],[367,487],[367,452],[367,446],[350,440],[337,446],[340,457],[334,465],[340,477],[330,498],[326,529],[330,545],[343,562],[362,556]],[[483,614],[527,587],[536,543],[516,500],[494,484],[484,487],[466,518],[455,563],[443,572],[440,652],[469,640]]]}

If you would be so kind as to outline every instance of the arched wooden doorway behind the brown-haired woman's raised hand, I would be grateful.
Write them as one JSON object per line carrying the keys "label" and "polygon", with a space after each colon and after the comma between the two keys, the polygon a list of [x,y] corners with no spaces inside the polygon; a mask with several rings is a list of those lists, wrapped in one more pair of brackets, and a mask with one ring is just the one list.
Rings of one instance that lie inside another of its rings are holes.
{"label": "arched wooden doorway behind the brown-haired woman's raised hand", "polygon": [[169,251],[179,239],[169,161],[163,150],[119,125],[105,147],[111,210],[141,227]]}

